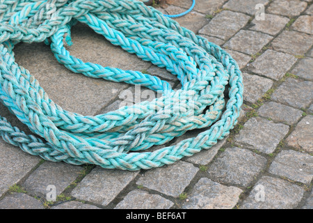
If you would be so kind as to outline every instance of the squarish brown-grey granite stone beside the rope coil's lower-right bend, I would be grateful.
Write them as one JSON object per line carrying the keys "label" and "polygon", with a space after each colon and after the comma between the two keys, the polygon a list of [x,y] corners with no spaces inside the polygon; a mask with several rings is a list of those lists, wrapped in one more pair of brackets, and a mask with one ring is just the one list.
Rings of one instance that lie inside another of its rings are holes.
{"label": "squarish brown-grey granite stone beside the rope coil's lower-right bend", "polygon": [[235,142],[246,148],[269,154],[275,151],[276,146],[288,131],[288,125],[273,123],[273,121],[259,117],[250,118],[236,135]]}

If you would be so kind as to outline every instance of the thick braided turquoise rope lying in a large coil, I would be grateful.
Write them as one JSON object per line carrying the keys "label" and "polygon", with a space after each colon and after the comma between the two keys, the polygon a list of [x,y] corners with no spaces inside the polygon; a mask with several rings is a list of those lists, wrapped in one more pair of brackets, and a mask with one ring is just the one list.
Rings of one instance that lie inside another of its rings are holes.
{"label": "thick braided turquoise rope lying in a large coil", "polygon": [[[55,7],[52,14],[50,6]],[[34,135],[1,116],[0,132],[6,142],[26,153],[106,169],[150,169],[211,148],[236,125],[243,100],[236,61],[218,45],[141,1],[6,0],[0,3],[0,18],[0,101]],[[182,89],[173,91],[168,82],[142,72],[102,67],[71,56],[63,39],[66,36],[65,42],[71,44],[70,29],[76,22],[88,24],[144,61],[166,68],[177,75]],[[14,45],[42,41],[72,72],[141,84],[162,95],[97,116],[68,112],[49,98],[29,70],[15,63]],[[229,89],[226,105],[225,87]],[[188,130],[207,127],[197,137],[146,151]]]}

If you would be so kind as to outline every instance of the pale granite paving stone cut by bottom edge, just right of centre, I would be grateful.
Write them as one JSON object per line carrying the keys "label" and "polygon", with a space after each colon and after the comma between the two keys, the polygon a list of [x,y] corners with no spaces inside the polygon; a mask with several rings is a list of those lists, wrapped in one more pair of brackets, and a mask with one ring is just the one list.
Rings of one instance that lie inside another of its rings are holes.
{"label": "pale granite paving stone cut by bottom edge, just right of centre", "polygon": [[227,187],[209,178],[201,178],[193,187],[183,209],[231,209],[239,201],[242,190]]}

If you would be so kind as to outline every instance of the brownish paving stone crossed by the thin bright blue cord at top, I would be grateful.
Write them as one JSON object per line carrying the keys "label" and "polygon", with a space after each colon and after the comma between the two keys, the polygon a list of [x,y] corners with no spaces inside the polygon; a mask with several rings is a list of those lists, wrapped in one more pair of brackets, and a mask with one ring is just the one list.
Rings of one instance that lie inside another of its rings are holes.
{"label": "brownish paving stone crossed by the thin bright blue cord at top", "polygon": [[[185,8],[180,8],[178,6],[168,6],[168,8],[165,10],[169,15],[177,15],[186,11]],[[203,26],[209,23],[209,20],[205,17],[205,15],[195,11],[191,11],[187,15],[184,15],[183,17],[177,17],[174,20],[177,21],[181,26],[193,31],[194,33],[198,33],[198,31]]]}

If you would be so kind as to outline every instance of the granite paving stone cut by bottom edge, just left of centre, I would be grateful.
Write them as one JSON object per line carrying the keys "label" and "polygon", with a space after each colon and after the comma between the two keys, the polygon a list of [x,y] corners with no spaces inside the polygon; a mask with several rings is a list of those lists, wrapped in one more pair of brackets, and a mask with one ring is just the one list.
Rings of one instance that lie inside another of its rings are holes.
{"label": "granite paving stone cut by bottom edge, just left of centre", "polygon": [[132,190],[114,209],[169,209],[174,203],[158,194]]}

